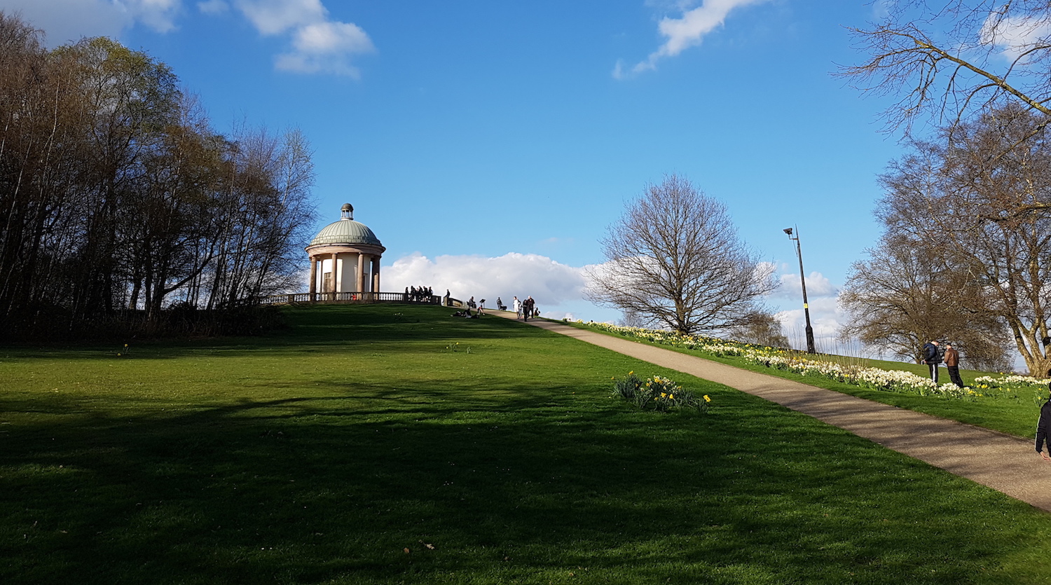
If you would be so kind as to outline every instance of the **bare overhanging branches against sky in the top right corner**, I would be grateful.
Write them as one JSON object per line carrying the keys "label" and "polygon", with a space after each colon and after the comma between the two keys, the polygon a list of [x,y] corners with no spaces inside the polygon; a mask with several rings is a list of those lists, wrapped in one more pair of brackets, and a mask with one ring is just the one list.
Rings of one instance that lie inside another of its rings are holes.
{"label": "bare overhanging branches against sky in the top right corner", "polygon": [[899,96],[891,128],[921,114],[937,125],[1014,103],[1051,116],[1051,0],[903,0],[852,29],[868,55],[841,75],[863,91]]}

